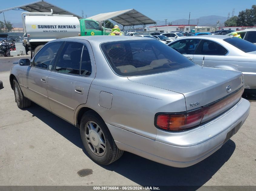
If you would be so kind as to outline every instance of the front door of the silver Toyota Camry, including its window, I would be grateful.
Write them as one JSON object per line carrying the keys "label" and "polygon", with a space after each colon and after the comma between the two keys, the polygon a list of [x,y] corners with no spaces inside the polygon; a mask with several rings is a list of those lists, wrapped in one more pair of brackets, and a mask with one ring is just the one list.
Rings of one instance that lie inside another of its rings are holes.
{"label": "front door of the silver Toyota Camry, including its window", "polygon": [[26,97],[47,110],[51,110],[46,89],[48,76],[61,46],[62,42],[45,45],[31,60],[32,66],[27,68],[23,78]]}

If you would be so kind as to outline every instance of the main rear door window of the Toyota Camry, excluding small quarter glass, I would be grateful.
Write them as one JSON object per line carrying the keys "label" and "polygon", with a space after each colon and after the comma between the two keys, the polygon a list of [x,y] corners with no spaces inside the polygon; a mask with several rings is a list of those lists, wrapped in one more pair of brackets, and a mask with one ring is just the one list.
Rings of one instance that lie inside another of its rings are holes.
{"label": "main rear door window of the Toyota Camry, excluding small quarter glass", "polygon": [[82,49],[82,43],[66,42],[54,70],[65,74],[79,75]]}

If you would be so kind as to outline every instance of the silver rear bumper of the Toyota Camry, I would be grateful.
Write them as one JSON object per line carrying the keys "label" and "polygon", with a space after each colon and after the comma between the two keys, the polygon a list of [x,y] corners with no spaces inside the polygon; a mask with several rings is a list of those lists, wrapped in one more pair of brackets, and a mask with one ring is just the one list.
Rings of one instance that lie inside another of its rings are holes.
{"label": "silver rear bumper of the Toyota Camry", "polygon": [[241,99],[218,118],[185,132],[157,130],[156,139],[107,124],[119,149],[173,167],[196,164],[215,151],[242,126],[249,115],[250,103]]}

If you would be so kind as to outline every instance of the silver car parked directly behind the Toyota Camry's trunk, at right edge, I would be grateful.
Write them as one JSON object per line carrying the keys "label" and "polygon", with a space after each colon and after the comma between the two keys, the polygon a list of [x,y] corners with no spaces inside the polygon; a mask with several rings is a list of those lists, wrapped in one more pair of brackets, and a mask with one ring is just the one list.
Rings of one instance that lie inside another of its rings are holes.
{"label": "silver car parked directly behind the Toyota Camry's trunk, at right edge", "polygon": [[256,93],[256,45],[237,37],[207,35],[185,37],[168,46],[199,65],[243,72],[245,88]]}

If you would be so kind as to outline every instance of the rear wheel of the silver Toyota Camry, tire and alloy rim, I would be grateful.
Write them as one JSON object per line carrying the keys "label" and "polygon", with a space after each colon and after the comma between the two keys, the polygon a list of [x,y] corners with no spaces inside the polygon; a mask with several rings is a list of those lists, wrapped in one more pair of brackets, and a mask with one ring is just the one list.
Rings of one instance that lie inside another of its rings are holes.
{"label": "rear wheel of the silver Toyota Camry, tire and alloy rim", "polygon": [[111,164],[124,153],[116,146],[107,125],[95,111],[87,111],[82,116],[80,134],[85,150],[98,164]]}

